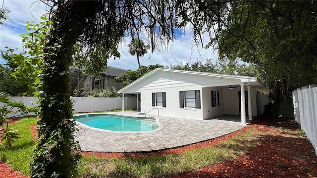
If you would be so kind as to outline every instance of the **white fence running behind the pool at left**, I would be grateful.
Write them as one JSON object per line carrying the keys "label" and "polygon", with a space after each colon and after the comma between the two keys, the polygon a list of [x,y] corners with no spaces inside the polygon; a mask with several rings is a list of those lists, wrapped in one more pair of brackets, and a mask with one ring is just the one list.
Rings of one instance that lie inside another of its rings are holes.
{"label": "white fence running behind the pool at left", "polygon": [[[13,101],[20,101],[26,106],[34,107],[36,106],[35,97],[29,96],[19,96],[10,97]],[[110,111],[115,109],[122,109],[122,97],[70,97],[73,101],[74,112],[95,112],[95,111]],[[124,109],[136,109],[137,108],[137,98],[135,97],[125,97],[124,98]],[[3,103],[0,103],[2,106]],[[13,111],[16,111],[14,108]],[[34,115],[34,113],[29,113],[28,115]],[[14,114],[9,114],[8,117],[18,117],[21,113],[16,112]]]}

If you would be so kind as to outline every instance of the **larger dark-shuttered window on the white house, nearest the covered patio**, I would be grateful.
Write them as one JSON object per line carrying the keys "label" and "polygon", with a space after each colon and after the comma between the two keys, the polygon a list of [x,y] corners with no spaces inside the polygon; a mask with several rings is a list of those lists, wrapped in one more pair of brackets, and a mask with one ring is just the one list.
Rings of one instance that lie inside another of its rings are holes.
{"label": "larger dark-shuttered window on the white house, nearest the covered patio", "polygon": [[200,108],[200,90],[179,91],[179,107]]}

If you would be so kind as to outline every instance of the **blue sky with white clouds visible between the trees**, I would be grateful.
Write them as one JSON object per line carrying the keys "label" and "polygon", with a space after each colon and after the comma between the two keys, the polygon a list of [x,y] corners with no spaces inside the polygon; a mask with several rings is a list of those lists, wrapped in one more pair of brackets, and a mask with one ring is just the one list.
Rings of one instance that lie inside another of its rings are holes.
{"label": "blue sky with white clouds visible between the trees", "polygon": [[[2,5],[3,4],[3,5]],[[22,52],[21,34],[26,32],[26,22],[40,21],[42,14],[46,13],[46,5],[40,0],[0,0],[0,5],[11,10],[8,14],[8,20],[0,26],[0,50],[5,50],[5,46],[17,48],[17,52]],[[182,63],[195,63],[200,61],[205,63],[207,59],[217,59],[217,52],[212,48],[204,49],[202,45],[196,45],[193,41],[192,32],[181,30],[179,36],[173,42],[164,44],[164,47],[151,53],[150,51],[140,57],[141,65],[160,64],[163,66],[179,65]],[[208,39],[203,40],[206,45]],[[122,69],[138,69],[137,56],[129,53],[128,44],[130,39],[124,38],[122,44],[119,45],[120,58],[108,59],[108,66]],[[0,63],[4,60],[0,58]]]}

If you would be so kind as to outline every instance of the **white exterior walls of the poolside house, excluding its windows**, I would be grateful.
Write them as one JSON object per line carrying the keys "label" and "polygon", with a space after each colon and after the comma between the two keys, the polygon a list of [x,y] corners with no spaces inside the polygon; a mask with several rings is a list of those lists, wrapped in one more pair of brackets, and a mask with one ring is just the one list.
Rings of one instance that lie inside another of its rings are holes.
{"label": "white exterior walls of the poolside house, excluding its windows", "polygon": [[[253,79],[250,79],[253,80]],[[160,71],[157,70],[150,75],[142,78],[140,82],[122,89],[122,93],[141,93],[141,112],[147,113],[153,108],[159,108],[160,116],[182,117],[190,119],[209,119],[222,114],[240,115],[238,91],[240,87],[235,89],[227,89],[228,86],[237,86],[242,82],[255,82],[228,78],[223,76],[209,76],[208,74],[195,72],[174,72],[173,70]],[[257,85],[257,84],[256,84]],[[225,86],[223,88],[222,86]],[[200,90],[201,108],[180,108],[179,91]],[[220,106],[211,107],[211,90],[219,91]],[[247,87],[245,87],[247,91]],[[152,93],[166,93],[166,107],[152,106]],[[252,96],[252,115],[257,116],[256,90],[251,88]],[[154,109],[149,114],[158,114],[158,110]]]}

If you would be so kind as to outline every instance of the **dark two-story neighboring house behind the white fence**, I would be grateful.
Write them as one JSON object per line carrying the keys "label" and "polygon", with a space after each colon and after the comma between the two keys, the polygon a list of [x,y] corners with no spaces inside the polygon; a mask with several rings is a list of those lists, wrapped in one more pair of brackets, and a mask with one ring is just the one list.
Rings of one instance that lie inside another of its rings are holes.
{"label": "dark two-story neighboring house behind the white fence", "polygon": [[93,89],[107,89],[108,87],[115,87],[115,89],[122,89],[120,83],[115,82],[114,77],[121,74],[126,74],[126,69],[120,69],[116,67],[107,66],[106,71],[100,72],[100,76],[82,74],[84,68],[71,67],[72,77],[72,91],[78,89],[84,96],[87,96],[89,91]]}

